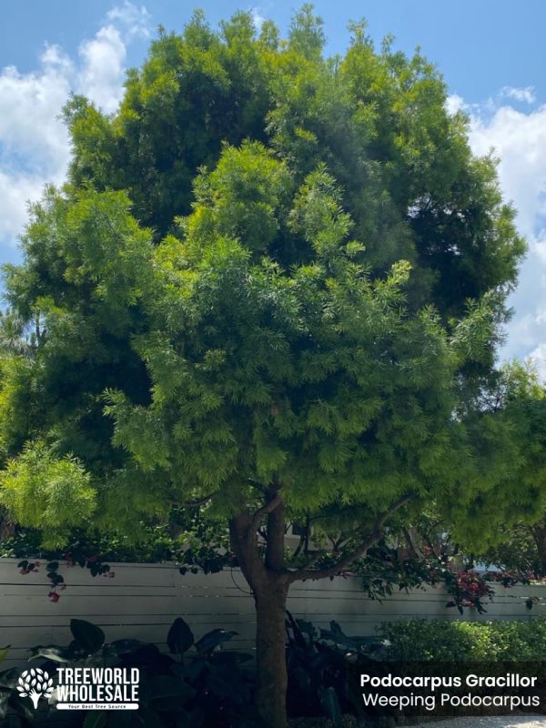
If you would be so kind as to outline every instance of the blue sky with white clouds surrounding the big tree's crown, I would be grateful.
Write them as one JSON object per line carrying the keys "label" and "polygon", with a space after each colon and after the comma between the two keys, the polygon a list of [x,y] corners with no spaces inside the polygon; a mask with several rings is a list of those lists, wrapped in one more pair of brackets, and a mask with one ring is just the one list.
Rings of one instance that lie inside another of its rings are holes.
{"label": "blue sky with white clouds surrounding the big tree's crown", "polygon": [[[258,0],[257,0],[258,2]],[[195,6],[210,22],[236,9],[286,30],[289,0],[260,5],[202,0],[19,0],[3,3],[0,25],[0,262],[17,260],[26,200],[61,182],[69,157],[58,114],[71,90],[113,112],[124,70],[138,65],[157,25],[179,30]],[[531,356],[546,378],[546,3],[526,0],[354,0],[315,3],[329,53],[347,44],[349,19],[366,17],[369,34],[395,35],[408,52],[420,45],[450,89],[450,107],[470,115],[477,154],[495,147],[501,186],[519,210],[530,252],[508,329],[505,358]]]}

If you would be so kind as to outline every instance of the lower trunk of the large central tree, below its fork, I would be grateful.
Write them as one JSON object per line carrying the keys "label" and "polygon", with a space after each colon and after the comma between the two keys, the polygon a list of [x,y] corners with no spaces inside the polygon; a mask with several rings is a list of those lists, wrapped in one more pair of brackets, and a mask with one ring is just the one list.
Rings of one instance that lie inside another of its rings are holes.
{"label": "lower trunk of the large central tree, below its fork", "polygon": [[256,599],[256,707],[268,728],[286,728],[288,672],[285,612],[288,583],[267,577]]}

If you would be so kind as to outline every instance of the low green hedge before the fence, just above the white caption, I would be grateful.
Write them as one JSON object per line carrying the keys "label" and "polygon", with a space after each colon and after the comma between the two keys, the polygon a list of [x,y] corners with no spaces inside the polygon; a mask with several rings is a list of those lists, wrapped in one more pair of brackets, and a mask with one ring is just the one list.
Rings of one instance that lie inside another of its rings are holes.
{"label": "low green hedge before the fence, just above the white caption", "polygon": [[401,620],[383,624],[392,660],[542,661],[546,619],[529,622],[440,622]]}

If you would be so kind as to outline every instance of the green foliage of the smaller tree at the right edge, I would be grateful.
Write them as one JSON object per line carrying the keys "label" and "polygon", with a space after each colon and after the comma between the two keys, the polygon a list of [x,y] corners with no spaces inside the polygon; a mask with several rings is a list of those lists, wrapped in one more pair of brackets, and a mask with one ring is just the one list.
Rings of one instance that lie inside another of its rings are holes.
{"label": "green foliage of the smaller tree at the right edge", "polygon": [[[501,543],[512,526],[541,521],[546,495],[546,399],[536,372],[507,365],[480,398],[466,413],[472,449],[460,461],[460,484],[437,498],[453,538],[476,554]],[[464,478],[473,469],[480,486],[469,489]]]}

